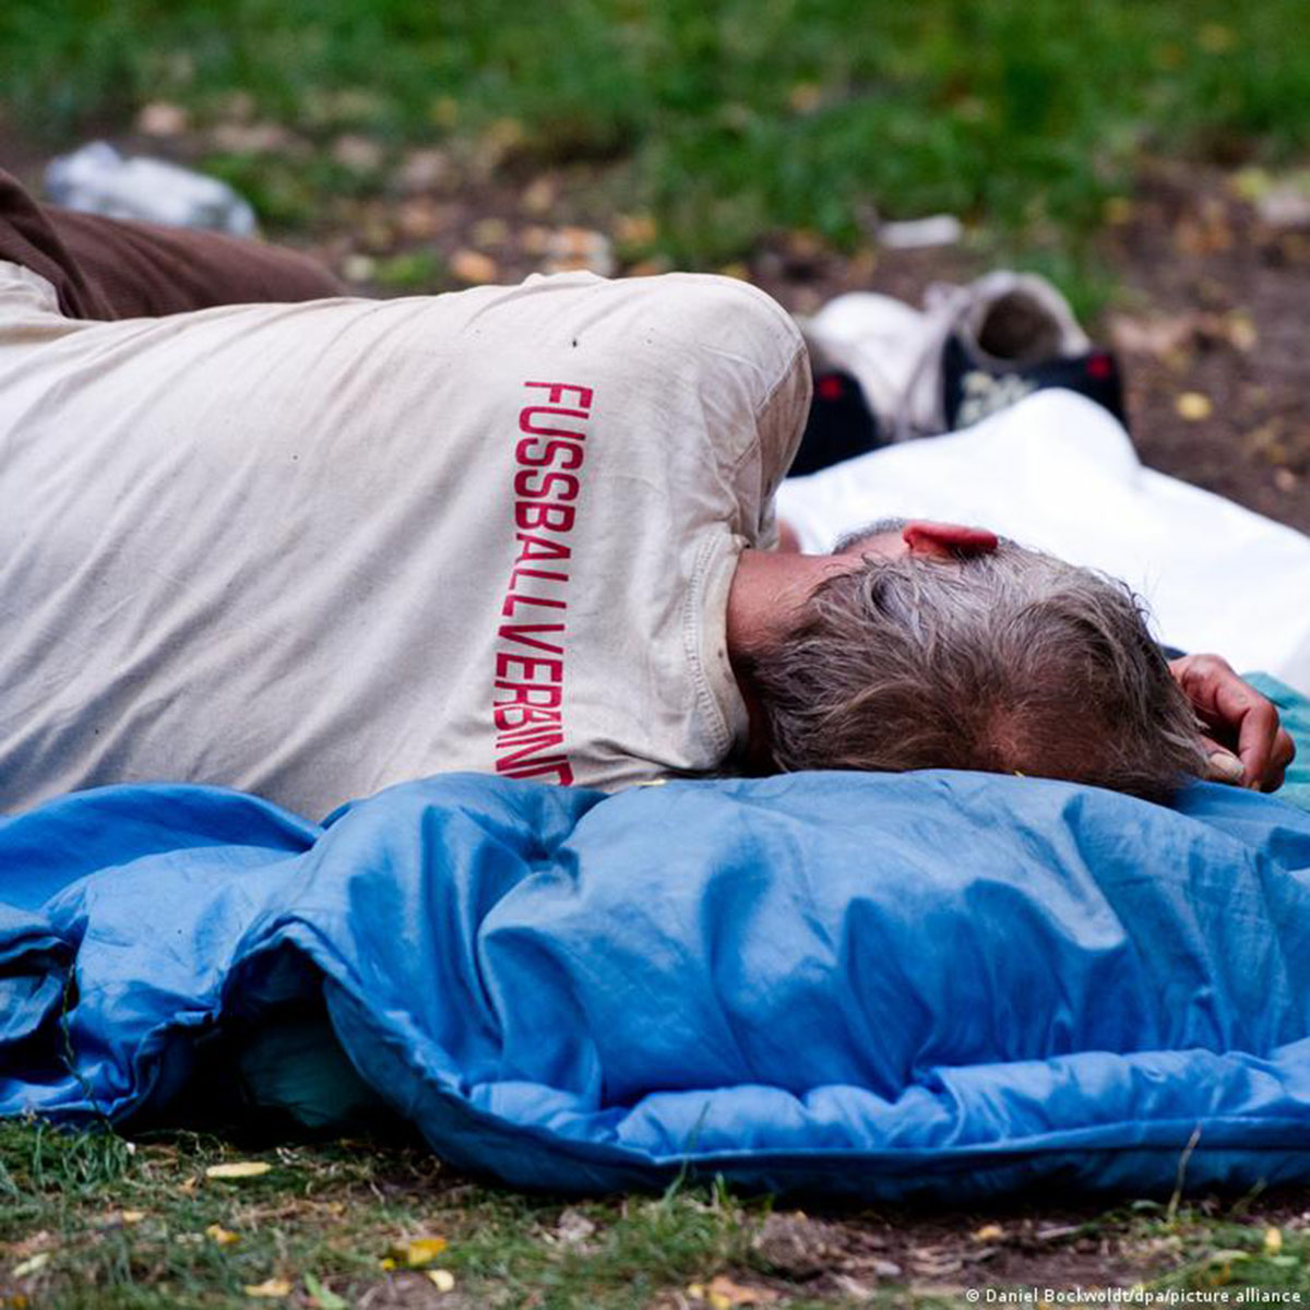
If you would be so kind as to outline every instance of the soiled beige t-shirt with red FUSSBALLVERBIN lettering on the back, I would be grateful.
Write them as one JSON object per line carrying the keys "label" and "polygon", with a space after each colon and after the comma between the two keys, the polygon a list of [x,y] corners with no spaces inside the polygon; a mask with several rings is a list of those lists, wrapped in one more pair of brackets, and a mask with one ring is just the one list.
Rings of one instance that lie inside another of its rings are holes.
{"label": "soiled beige t-shirt with red FUSSBALLVERBIN lettering on the back", "polygon": [[720,278],[72,322],[0,265],[0,808],[603,787],[745,731],[728,587],[808,402]]}

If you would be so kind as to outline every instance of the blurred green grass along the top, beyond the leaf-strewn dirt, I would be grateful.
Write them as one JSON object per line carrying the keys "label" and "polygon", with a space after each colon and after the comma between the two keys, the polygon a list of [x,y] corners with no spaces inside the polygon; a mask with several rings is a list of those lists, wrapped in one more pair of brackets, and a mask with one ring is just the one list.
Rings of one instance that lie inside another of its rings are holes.
{"label": "blurred green grass along the top, beyond the leaf-strewn dirt", "polygon": [[[582,165],[684,265],[777,229],[849,249],[876,208],[985,220],[1058,266],[1144,151],[1305,151],[1302,24],[1300,0],[9,0],[0,103],[67,144],[159,98],[219,122],[240,93],[317,141],[441,141],[511,182]],[[381,185],[320,157],[217,166],[275,231]]]}

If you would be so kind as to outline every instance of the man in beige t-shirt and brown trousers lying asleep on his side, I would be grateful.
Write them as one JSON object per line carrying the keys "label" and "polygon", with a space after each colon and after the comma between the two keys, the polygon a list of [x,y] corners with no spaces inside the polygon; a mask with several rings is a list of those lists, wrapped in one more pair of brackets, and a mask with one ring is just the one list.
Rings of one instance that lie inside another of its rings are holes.
{"label": "man in beige t-shirt and brown trousers lying asleep on his side", "polygon": [[318,816],[451,769],[1281,781],[1269,702],[1167,664],[1096,574],[913,520],[777,550],[810,373],[761,292],[335,292],[0,174],[0,808],[168,779]]}

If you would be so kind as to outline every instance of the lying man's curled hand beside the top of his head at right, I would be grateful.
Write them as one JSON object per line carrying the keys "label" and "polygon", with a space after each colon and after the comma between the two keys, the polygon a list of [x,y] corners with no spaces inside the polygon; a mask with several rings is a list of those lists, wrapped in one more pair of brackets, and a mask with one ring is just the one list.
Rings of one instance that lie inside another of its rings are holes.
{"label": "lying man's curled hand beside the top of his head at right", "polygon": [[1205,727],[1207,777],[1252,791],[1273,791],[1297,753],[1279,711],[1218,655],[1184,655],[1170,672]]}

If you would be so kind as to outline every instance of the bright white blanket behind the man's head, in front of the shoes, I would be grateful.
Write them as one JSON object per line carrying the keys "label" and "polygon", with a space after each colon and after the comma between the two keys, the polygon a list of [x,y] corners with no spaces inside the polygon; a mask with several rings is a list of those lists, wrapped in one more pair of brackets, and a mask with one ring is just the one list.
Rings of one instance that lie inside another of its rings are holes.
{"label": "bright white blanket behind the man's head, in front of the shoes", "polygon": [[1310,693],[1310,537],[1144,468],[1123,427],[1072,392],[790,478],[778,514],[804,550],[888,516],[992,528],[1123,578],[1162,641]]}

